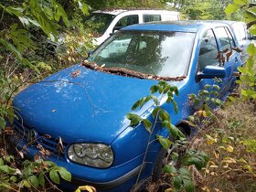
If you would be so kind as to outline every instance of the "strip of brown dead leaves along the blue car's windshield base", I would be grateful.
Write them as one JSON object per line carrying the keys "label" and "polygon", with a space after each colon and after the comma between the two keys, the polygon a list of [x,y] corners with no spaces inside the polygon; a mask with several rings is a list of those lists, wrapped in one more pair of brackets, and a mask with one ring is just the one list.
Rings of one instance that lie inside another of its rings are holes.
{"label": "strip of brown dead leaves along the blue car's windshield base", "polygon": [[147,79],[147,80],[180,81],[186,78],[186,76],[176,77],[176,78],[161,77],[157,75],[145,74],[138,71],[123,69],[123,68],[104,68],[104,64],[101,66],[98,66],[96,63],[89,62],[88,60],[81,61],[80,65],[89,69],[99,70],[101,72],[112,73],[112,74],[116,74],[124,77],[135,77],[135,78]]}

